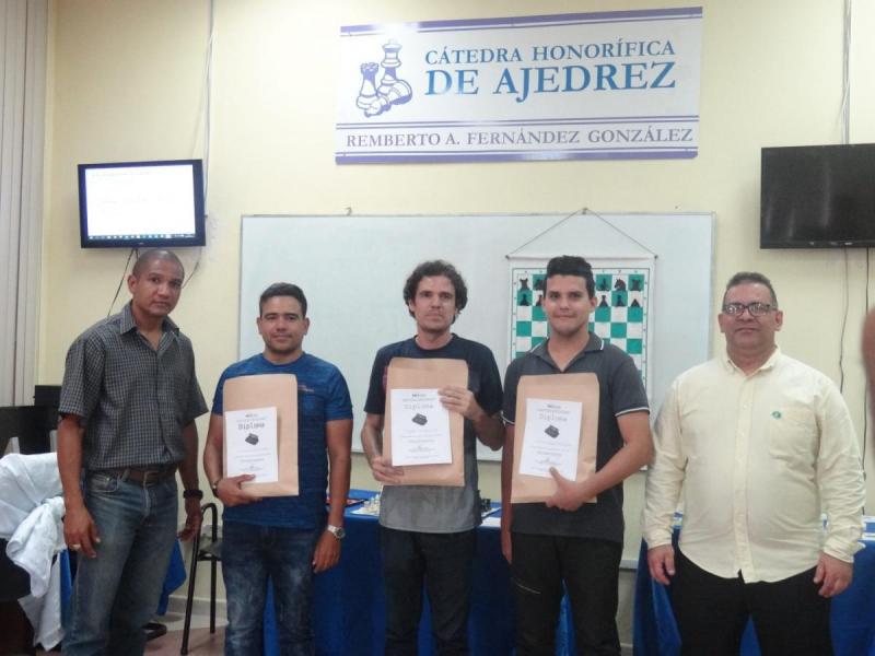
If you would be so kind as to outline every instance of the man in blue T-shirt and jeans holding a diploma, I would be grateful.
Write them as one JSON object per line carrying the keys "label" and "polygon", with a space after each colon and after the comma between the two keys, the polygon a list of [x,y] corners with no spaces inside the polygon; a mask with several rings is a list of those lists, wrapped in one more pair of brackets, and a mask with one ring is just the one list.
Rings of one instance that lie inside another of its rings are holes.
{"label": "man in blue T-shirt and jeans holding a diploma", "polygon": [[[338,563],[345,535],[352,405],[340,371],[302,349],[310,319],[301,288],[275,283],[264,291],[258,307],[258,332],[265,350],[222,373],[203,450],[203,469],[210,487],[225,505],[222,515],[222,573],[229,622],[225,654],[260,653],[261,617],[270,577],[280,652],[312,655],[315,653],[310,613],[313,574]],[[260,374],[294,374],[298,379],[298,496],[254,499],[241,488],[250,476],[222,476],[224,383],[236,376]],[[331,495],[327,523],[326,479]]]}

